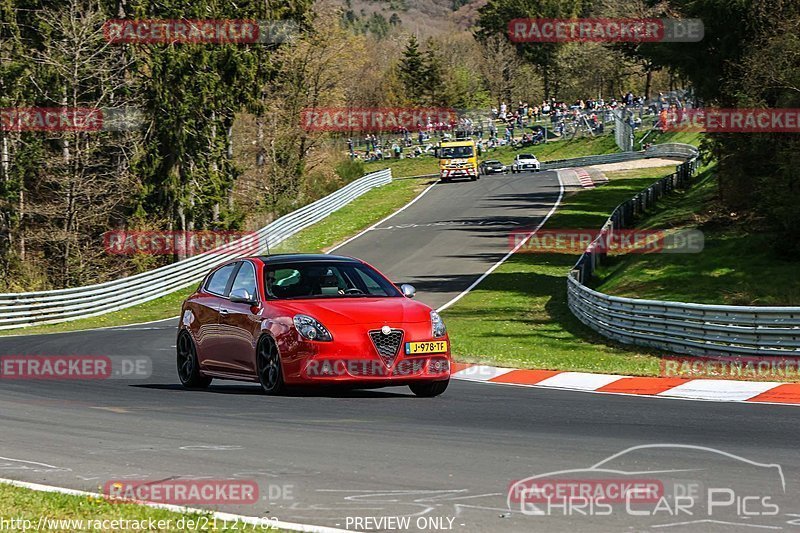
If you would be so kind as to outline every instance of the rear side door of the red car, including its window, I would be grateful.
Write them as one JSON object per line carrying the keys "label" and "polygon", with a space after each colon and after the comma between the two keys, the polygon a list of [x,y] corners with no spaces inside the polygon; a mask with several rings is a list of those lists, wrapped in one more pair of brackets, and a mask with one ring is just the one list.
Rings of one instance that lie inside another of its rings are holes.
{"label": "rear side door of the red car, including its window", "polygon": [[219,358],[226,339],[220,325],[220,309],[230,292],[239,263],[228,263],[211,273],[203,287],[203,305],[198,307],[200,331],[197,335],[197,359],[203,370],[218,371]]}

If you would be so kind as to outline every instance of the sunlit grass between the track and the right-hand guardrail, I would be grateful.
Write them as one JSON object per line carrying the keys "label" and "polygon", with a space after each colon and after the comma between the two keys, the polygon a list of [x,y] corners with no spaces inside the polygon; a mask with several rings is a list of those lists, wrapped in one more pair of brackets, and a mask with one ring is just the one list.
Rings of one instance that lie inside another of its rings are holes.
{"label": "sunlit grass between the track and the right-hand guardrail", "polygon": [[[608,185],[567,196],[546,229],[600,228],[611,211],[674,167],[608,172]],[[444,312],[454,356],[516,368],[658,375],[655,353],[612,343],[567,307],[580,254],[517,253]]]}

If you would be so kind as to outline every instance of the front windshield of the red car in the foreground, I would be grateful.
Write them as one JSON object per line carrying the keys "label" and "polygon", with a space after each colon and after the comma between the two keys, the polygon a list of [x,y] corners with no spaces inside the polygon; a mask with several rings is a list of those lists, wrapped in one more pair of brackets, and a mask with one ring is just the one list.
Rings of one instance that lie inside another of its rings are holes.
{"label": "front windshield of the red car in the foreground", "polygon": [[394,285],[363,263],[297,262],[267,265],[267,298],[402,297]]}

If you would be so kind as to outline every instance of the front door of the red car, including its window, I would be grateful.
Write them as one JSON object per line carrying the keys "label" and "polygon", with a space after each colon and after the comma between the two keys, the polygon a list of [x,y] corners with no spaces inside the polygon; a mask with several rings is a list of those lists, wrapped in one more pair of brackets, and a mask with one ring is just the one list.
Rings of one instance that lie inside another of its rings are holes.
{"label": "front door of the red car, including its window", "polygon": [[[219,365],[224,372],[253,375],[256,342],[261,334],[261,298],[256,283],[256,266],[252,261],[239,263],[228,296],[220,306],[220,333],[225,339],[219,354]],[[231,302],[230,294],[246,290],[254,304]]]}

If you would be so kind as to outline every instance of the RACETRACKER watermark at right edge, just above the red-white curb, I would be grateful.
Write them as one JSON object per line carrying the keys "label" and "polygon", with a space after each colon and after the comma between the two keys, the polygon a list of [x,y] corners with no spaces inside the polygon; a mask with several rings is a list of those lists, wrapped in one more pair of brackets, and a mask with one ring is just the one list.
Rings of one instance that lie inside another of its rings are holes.
{"label": "RACETRACKER watermark at right edge, just above the red-white curb", "polygon": [[664,357],[659,364],[670,378],[800,381],[800,357]]}

